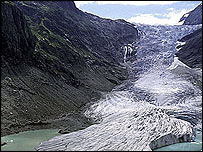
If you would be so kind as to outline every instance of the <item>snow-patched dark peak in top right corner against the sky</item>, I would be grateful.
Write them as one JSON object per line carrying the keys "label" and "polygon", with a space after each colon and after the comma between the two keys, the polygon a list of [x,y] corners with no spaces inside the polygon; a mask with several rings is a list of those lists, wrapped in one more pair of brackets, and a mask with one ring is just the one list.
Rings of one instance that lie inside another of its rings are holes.
{"label": "snow-patched dark peak in top right corner against the sky", "polygon": [[184,14],[179,22],[181,21],[184,21],[183,25],[202,24],[202,3],[194,10]]}

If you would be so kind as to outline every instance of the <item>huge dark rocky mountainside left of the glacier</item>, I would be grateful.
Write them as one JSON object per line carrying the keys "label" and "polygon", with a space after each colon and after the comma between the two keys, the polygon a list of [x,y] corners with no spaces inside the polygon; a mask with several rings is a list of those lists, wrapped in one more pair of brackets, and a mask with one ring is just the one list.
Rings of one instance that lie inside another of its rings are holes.
{"label": "huge dark rocky mountainside left of the glacier", "polygon": [[138,39],[124,20],[73,2],[1,3],[1,135],[91,124],[84,107],[128,76],[121,47]]}

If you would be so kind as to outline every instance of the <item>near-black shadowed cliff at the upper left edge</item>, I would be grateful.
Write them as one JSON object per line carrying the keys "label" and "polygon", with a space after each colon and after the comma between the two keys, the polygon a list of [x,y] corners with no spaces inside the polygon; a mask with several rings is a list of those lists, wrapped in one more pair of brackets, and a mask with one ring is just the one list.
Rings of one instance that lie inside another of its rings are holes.
{"label": "near-black shadowed cliff at the upper left edge", "polygon": [[36,40],[19,8],[3,2],[1,12],[1,57],[3,61],[16,65],[33,51]]}

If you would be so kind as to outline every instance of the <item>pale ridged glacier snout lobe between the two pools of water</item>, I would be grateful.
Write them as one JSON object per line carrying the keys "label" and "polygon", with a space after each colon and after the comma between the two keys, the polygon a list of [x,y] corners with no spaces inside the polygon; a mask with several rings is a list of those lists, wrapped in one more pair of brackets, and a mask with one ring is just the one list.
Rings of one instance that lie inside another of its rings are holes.
{"label": "pale ridged glacier snout lobe between the two pools of water", "polygon": [[[167,143],[190,141],[193,136],[192,125],[166,113],[166,109],[147,102],[135,103],[134,109],[114,113],[84,130],[54,137],[36,149],[142,151]],[[157,139],[161,140],[153,142]]]}

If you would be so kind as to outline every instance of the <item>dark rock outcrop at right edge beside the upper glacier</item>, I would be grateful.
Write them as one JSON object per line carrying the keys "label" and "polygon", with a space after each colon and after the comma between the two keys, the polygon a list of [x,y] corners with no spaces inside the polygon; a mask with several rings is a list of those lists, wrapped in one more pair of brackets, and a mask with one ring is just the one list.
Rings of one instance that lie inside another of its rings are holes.
{"label": "dark rock outcrop at right edge beside the upper glacier", "polygon": [[202,28],[183,37],[185,45],[176,53],[179,60],[191,68],[202,68]]}

